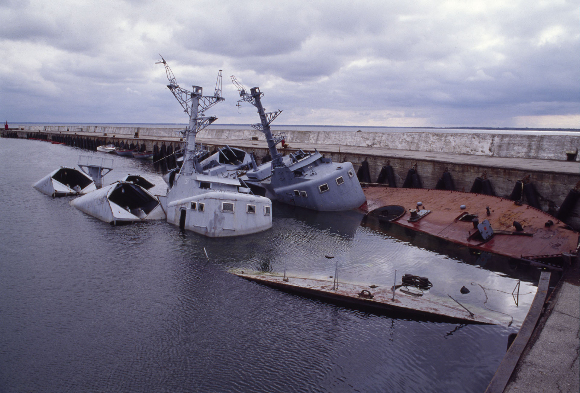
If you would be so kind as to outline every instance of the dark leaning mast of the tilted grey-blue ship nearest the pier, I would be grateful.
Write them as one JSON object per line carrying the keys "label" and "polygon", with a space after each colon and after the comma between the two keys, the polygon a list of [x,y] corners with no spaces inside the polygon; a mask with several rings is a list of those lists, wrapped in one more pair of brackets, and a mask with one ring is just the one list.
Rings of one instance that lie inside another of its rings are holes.
{"label": "dark leaning mast of the tilted grey-blue ship nearest the pier", "polygon": [[272,157],[272,166],[284,166],[282,162],[282,154],[278,152],[276,145],[285,138],[284,133],[278,133],[276,135],[272,135],[270,130],[270,123],[274,121],[278,117],[278,115],[282,112],[281,110],[277,110],[276,112],[266,112],[264,107],[262,106],[262,101],[260,100],[264,93],[260,92],[260,88],[252,88],[248,93],[247,90],[244,88],[237,79],[235,79],[234,75],[231,75],[231,81],[234,83],[235,87],[238,89],[238,93],[240,93],[241,100],[238,100],[238,106],[243,101],[246,101],[252,105],[254,105],[258,109],[258,114],[260,115],[260,123],[252,124],[252,127],[256,130],[259,130],[264,133],[266,136],[266,141],[268,142],[268,150],[270,151],[270,156]]}

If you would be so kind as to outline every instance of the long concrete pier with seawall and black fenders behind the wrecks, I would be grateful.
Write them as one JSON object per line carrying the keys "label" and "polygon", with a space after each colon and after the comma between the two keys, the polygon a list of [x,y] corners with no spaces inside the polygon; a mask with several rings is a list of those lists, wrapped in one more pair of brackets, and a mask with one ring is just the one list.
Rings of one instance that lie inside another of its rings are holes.
{"label": "long concrete pier with seawall and black fenders behind the wrecks", "polygon": [[[146,146],[183,147],[180,128],[144,128],[122,126],[38,126],[26,125],[2,130],[2,135],[26,138],[41,135],[48,140],[68,138],[72,144],[91,141],[97,144],[126,143]],[[366,162],[368,178],[378,180],[383,166],[390,165],[394,185],[401,187],[410,169],[418,174],[421,188],[436,188],[444,172],[451,175],[456,191],[471,191],[478,180],[487,179],[491,192],[509,197],[514,188],[531,183],[539,209],[556,215],[566,196],[578,187],[580,132],[553,135],[525,133],[450,133],[438,132],[339,132],[281,131],[287,148],[282,154],[298,149],[320,151],[335,162],[350,161],[357,171]],[[79,142],[79,140],[81,140]],[[197,141],[208,150],[230,145],[253,152],[261,162],[268,154],[264,135],[248,129],[204,129]],[[520,183],[517,183],[520,180]],[[532,205],[524,198],[524,203]],[[576,205],[580,205],[577,203]],[[580,206],[567,213],[565,223],[580,229]]]}

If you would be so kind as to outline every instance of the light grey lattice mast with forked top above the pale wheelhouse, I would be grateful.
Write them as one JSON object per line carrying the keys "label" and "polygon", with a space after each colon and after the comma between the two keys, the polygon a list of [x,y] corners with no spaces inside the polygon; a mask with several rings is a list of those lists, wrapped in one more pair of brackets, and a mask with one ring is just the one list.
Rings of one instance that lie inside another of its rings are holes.
{"label": "light grey lattice mast with forked top above the pale wheelhouse", "polygon": [[177,101],[182,105],[183,111],[189,115],[189,125],[187,125],[187,128],[183,130],[183,137],[186,141],[186,145],[182,172],[193,173],[195,172],[195,161],[201,154],[200,150],[195,149],[195,136],[202,129],[218,119],[214,116],[205,116],[205,111],[220,101],[225,100],[222,97],[222,70],[219,70],[218,72],[218,79],[216,81],[216,88],[213,96],[204,96],[203,89],[200,86],[191,86],[193,88],[191,92],[180,88],[175,79],[175,75],[173,75],[171,68],[169,68],[169,64],[166,63],[163,56],[161,56],[161,61],[158,61],[155,64],[165,65],[165,74],[169,80],[167,88],[171,90],[173,96],[175,96]]}

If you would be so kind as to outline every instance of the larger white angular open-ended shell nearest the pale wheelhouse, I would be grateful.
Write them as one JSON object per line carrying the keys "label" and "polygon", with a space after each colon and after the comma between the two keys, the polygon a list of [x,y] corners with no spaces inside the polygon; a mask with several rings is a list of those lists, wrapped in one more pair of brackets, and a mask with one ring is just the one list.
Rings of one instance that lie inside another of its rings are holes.
{"label": "larger white angular open-ended shell nearest the pale wheelhouse", "polygon": [[126,181],[119,181],[79,196],[70,204],[90,216],[114,225],[166,218],[161,203],[153,194]]}

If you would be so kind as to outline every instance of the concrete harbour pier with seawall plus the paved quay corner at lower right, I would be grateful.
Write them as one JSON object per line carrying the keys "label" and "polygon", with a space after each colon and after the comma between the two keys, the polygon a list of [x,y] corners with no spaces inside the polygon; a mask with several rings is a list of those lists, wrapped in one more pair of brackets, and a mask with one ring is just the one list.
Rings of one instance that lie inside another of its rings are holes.
{"label": "concrete harbour pier with seawall plus the paved quay corner at lower right", "polygon": [[[423,188],[435,188],[447,171],[457,191],[470,191],[475,179],[485,177],[491,181],[495,195],[503,198],[512,193],[518,180],[526,179],[534,184],[542,210],[552,214],[580,181],[580,133],[578,136],[451,134],[436,130],[433,133],[293,130],[284,133],[288,147],[281,148],[282,152],[316,149],[335,162],[352,162],[356,170],[366,167],[362,165],[366,161],[371,181],[377,180],[383,166],[390,165],[397,187],[403,185],[411,168],[419,174]],[[1,134],[55,141],[67,139],[85,148],[97,143],[133,143],[145,144],[147,150],[153,150],[155,144],[171,145],[176,150],[184,145],[177,128],[35,125],[2,130]],[[258,161],[267,154],[263,134],[257,130],[206,129],[198,134],[197,140],[210,151],[227,144],[254,152]],[[577,206],[566,223],[578,229],[579,217]],[[575,261],[563,272],[556,288],[548,290],[546,303],[539,307],[538,322],[532,325],[531,337],[515,355],[513,365],[501,365],[487,391],[578,391],[578,276],[578,261]]]}

